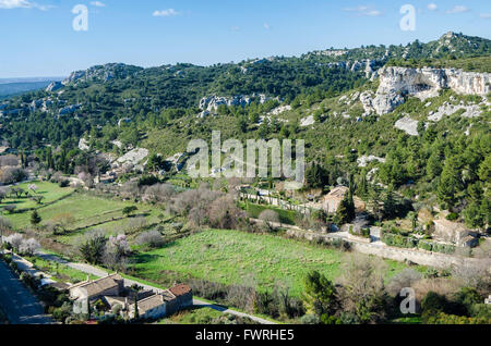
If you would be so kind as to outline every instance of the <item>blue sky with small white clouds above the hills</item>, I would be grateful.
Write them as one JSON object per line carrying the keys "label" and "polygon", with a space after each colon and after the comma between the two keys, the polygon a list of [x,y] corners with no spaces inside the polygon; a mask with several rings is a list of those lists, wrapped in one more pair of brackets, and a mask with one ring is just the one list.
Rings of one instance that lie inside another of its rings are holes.
{"label": "blue sky with small white clouds above the hills", "polygon": [[[402,5],[417,9],[403,32]],[[88,30],[75,32],[76,4]],[[482,0],[0,0],[0,78],[64,76],[95,64],[208,65],[361,45],[491,38]]]}

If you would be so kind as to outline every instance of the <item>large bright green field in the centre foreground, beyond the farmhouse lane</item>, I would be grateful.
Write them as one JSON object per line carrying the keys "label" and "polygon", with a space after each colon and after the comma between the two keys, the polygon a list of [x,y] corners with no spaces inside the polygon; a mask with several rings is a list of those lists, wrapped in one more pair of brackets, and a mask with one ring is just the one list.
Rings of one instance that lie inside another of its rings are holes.
{"label": "large bright green field in the centre foreground, beyond the farmhouse lane", "polygon": [[[166,271],[189,274],[223,284],[256,283],[259,291],[271,291],[276,281],[291,287],[299,296],[302,279],[309,270],[318,270],[330,279],[340,274],[347,254],[315,247],[300,240],[238,231],[204,231],[179,239],[165,248],[136,258],[136,276],[158,282]],[[406,268],[395,261],[387,276]]]}

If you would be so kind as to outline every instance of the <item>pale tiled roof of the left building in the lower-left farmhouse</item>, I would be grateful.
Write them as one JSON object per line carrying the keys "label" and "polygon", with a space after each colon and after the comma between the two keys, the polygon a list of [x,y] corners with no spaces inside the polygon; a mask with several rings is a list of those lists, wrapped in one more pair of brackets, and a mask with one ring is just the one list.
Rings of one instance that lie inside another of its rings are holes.
{"label": "pale tiled roof of the left building in the lower-left farmhouse", "polygon": [[97,300],[104,296],[119,296],[124,291],[124,280],[119,274],[112,274],[95,281],[84,281],[69,288],[70,299]]}

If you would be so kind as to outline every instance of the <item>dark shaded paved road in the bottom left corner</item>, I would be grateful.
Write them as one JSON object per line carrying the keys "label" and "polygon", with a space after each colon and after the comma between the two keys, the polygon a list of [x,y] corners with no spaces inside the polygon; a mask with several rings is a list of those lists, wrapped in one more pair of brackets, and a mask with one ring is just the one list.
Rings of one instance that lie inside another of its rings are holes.
{"label": "dark shaded paved road in the bottom left corner", "polygon": [[0,306],[12,324],[49,324],[41,304],[0,261]]}

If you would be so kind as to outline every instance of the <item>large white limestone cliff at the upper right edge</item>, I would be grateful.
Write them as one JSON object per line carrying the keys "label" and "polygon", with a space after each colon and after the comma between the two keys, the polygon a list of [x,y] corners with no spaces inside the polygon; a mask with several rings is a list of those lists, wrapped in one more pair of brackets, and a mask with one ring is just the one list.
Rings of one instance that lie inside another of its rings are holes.
{"label": "large white limestone cliff at the upper right edge", "polygon": [[392,112],[404,103],[404,96],[421,100],[439,96],[442,89],[462,95],[484,96],[490,92],[491,73],[464,72],[455,69],[409,69],[386,66],[378,71],[380,86],[373,97],[366,91],[360,97],[366,112],[379,115]]}

